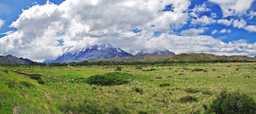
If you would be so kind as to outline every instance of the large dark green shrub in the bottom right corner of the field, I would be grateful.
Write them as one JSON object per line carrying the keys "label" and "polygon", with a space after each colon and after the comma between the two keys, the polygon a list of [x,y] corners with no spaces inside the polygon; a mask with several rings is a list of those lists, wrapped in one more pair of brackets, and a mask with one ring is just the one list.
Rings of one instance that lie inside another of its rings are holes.
{"label": "large dark green shrub in the bottom right corner of the field", "polygon": [[256,101],[243,93],[227,93],[224,89],[210,104],[210,108],[217,114],[255,114]]}

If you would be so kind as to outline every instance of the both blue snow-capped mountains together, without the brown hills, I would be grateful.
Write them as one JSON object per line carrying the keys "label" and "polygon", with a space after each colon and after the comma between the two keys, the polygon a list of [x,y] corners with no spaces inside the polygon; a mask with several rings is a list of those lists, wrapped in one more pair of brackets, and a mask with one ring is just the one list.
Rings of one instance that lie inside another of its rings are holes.
{"label": "both blue snow-capped mountains together, without the brown hills", "polygon": [[[154,55],[154,54],[174,54],[167,49],[144,48],[136,50],[135,56]],[[83,62],[85,60],[98,60],[113,58],[115,56],[132,56],[124,50],[112,47],[110,43],[101,43],[93,46],[84,47],[80,52],[68,52],[60,55],[56,60],[45,60],[44,63],[63,63],[63,62]]]}

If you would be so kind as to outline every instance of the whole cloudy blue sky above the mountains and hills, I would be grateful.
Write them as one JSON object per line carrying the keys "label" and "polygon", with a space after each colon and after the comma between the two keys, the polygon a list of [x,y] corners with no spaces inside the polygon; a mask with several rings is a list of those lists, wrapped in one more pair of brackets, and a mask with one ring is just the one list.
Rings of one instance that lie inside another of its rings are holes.
{"label": "whole cloudy blue sky above the mountains and hills", "polygon": [[256,0],[1,0],[0,55],[37,62],[108,42],[128,53],[256,56]]}

